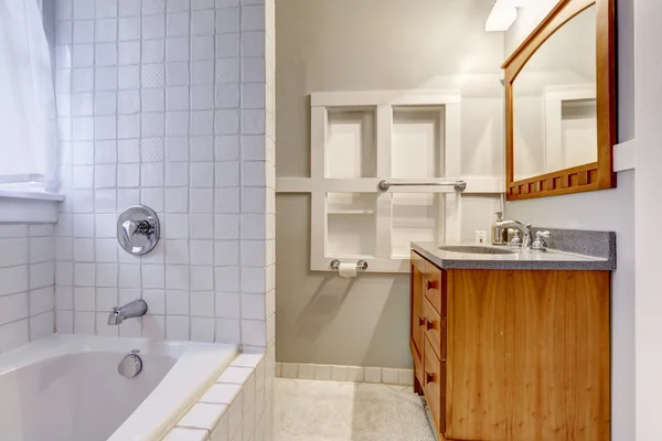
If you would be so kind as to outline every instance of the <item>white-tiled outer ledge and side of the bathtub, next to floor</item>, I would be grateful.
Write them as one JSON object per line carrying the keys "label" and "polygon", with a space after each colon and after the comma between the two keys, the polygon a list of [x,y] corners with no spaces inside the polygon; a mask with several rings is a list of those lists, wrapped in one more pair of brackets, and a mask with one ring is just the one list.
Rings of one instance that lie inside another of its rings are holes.
{"label": "white-tiled outer ledge and side of the bathtub, next to floor", "polygon": [[242,354],[200,397],[167,441],[270,441],[274,363]]}

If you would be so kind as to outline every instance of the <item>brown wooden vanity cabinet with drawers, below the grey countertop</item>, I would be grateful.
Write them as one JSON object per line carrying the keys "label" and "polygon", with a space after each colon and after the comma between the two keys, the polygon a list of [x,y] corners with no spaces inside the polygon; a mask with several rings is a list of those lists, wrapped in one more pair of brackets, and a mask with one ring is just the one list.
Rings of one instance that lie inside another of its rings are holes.
{"label": "brown wooden vanity cabinet with drawers, below the grey countertop", "polygon": [[608,441],[609,271],[441,270],[412,252],[414,391],[446,441]]}

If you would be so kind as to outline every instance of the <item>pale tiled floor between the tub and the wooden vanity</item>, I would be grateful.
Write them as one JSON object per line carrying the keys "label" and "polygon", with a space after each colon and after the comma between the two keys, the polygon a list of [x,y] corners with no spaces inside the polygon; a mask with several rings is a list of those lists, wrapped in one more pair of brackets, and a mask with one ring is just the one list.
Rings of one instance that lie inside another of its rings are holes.
{"label": "pale tiled floor between the tub and the wooden vanity", "polygon": [[276,378],[276,441],[435,441],[409,386]]}

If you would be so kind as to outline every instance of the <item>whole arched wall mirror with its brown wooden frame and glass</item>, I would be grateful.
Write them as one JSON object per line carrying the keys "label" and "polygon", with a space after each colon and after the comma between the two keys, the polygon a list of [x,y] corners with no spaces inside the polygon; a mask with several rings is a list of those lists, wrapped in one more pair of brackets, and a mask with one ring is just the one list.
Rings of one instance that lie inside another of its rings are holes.
{"label": "whole arched wall mirror with its brown wooden frame and glass", "polygon": [[506,198],[616,186],[613,0],[560,0],[503,64]]}

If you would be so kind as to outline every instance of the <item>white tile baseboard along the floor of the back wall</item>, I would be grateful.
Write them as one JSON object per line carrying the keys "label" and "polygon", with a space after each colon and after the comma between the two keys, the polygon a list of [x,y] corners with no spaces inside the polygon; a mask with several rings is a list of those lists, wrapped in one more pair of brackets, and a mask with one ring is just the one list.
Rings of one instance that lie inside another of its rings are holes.
{"label": "white tile baseboard along the floor of the back wall", "polygon": [[282,378],[319,379],[351,383],[382,383],[386,385],[412,386],[413,369],[388,367],[360,367],[313,365],[308,363],[278,363],[276,376]]}

